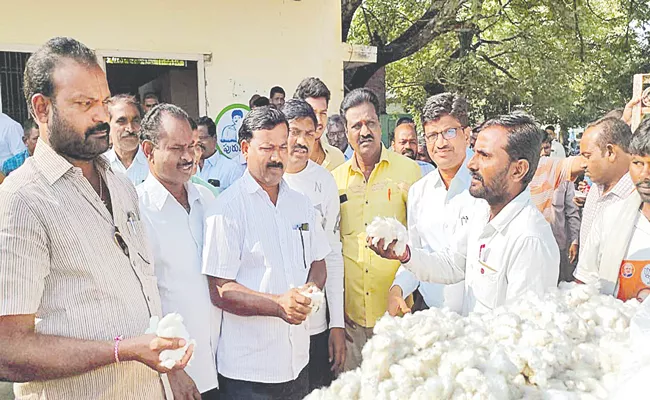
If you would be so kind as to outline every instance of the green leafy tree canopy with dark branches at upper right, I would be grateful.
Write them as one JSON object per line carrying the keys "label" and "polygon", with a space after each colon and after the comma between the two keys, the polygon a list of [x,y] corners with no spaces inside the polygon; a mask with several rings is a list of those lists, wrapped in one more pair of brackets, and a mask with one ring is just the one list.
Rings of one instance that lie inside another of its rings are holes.
{"label": "green leafy tree canopy with dark branches at upper right", "polygon": [[[389,103],[417,115],[426,98],[464,94],[473,119],[523,109],[580,126],[623,107],[650,72],[645,0],[343,0],[343,38],[377,46]],[[346,22],[347,21],[347,22]]]}

